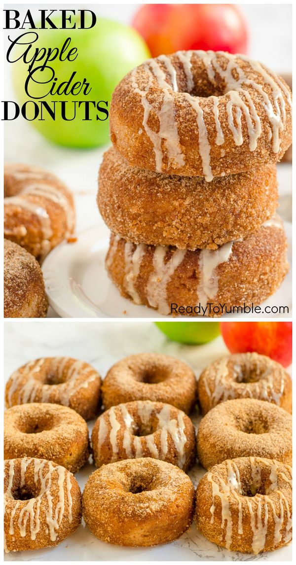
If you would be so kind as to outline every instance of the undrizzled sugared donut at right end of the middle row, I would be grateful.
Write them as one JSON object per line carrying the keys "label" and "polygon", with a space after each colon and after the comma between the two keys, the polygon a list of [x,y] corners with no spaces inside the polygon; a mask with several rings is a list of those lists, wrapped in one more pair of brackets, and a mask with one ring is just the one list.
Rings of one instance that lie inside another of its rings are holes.
{"label": "undrizzled sugared donut at right end of the middle row", "polygon": [[292,464],[292,417],[275,404],[254,398],[227,400],[204,416],[197,454],[206,469],[235,457],[267,457]]}

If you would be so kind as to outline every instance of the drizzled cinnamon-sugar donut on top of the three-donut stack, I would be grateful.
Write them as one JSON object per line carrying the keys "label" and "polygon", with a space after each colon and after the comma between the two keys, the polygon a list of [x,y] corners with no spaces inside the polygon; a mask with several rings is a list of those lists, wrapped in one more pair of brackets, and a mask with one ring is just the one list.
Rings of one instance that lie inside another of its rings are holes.
{"label": "drizzled cinnamon-sugar donut on top of the three-donut stack", "polygon": [[211,181],[281,159],[292,141],[291,91],[244,55],[160,55],[116,86],[110,132],[134,167]]}

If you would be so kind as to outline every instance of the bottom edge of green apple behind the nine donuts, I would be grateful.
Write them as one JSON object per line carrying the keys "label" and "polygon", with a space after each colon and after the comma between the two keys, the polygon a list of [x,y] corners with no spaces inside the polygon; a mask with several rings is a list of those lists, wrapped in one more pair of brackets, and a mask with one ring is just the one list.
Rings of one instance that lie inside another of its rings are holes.
{"label": "bottom edge of green apple behind the nine donuts", "polygon": [[220,334],[217,321],[156,321],[155,325],[180,344],[207,344]]}

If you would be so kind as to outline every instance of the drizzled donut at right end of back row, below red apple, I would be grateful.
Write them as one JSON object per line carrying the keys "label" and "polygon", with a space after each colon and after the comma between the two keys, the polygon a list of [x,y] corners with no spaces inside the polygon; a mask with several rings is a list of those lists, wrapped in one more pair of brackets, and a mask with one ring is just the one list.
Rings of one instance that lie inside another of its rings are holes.
{"label": "drizzled donut at right end of back row, below red apple", "polygon": [[198,380],[202,414],[231,398],[258,398],[292,411],[292,381],[280,363],[258,353],[237,353],[211,363]]}

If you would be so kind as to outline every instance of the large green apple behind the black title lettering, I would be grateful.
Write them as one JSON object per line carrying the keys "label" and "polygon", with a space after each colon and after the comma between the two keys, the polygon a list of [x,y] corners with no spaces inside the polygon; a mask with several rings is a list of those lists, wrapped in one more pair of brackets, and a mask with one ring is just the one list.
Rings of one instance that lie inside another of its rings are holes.
{"label": "large green apple behind the black title lettering", "polygon": [[[53,20],[54,21],[54,20]],[[55,22],[56,25],[58,22]],[[33,30],[30,30],[34,32]],[[110,110],[111,95],[115,86],[132,68],[141,64],[150,57],[149,50],[140,34],[133,28],[103,18],[97,17],[97,22],[92,29],[37,29],[38,40],[32,44],[32,53],[38,47],[58,47],[62,49],[67,38],[71,38],[69,49],[76,47],[78,54],[75,60],[62,60],[59,58],[48,63],[54,71],[54,77],[57,79],[55,85],[59,85],[63,81],[68,81],[72,73],[75,71],[75,79],[73,82],[80,81],[89,82],[90,92],[84,93],[83,90],[76,95],[73,94],[48,94],[53,84],[53,73],[50,68],[42,71],[36,71],[34,78],[36,82],[29,82],[29,94],[33,95],[34,100],[40,106],[39,100],[49,103],[53,107],[53,102],[68,101],[67,118],[72,118],[74,114],[74,105],[72,101],[82,101],[82,105],[78,108],[76,104],[76,117],[72,121],[64,121],[61,117],[60,110],[56,112],[55,120],[51,119],[46,110],[42,110],[42,120],[34,119],[29,121],[40,133],[50,141],[56,144],[71,147],[96,147],[104,145],[109,138],[109,120],[106,119],[106,112],[98,112],[96,108],[90,104],[90,116],[92,120],[85,120],[85,101],[107,101],[107,109]],[[34,37],[28,36],[29,37]],[[31,39],[32,41],[32,39]],[[27,46],[16,46],[16,49],[24,51]],[[31,55],[32,56],[32,55]],[[40,63],[35,62],[33,68]],[[32,98],[28,97],[24,89],[25,80],[28,77],[28,64],[23,59],[14,62],[12,65],[12,80],[17,102],[23,105]],[[41,84],[38,84],[40,81]],[[49,81],[46,84],[46,81]],[[45,97],[43,97],[45,95]],[[33,116],[34,105],[30,102],[26,105],[28,116],[31,120]],[[106,108],[104,103],[102,108]],[[32,108],[32,109],[31,109]],[[30,116],[31,114],[31,116]],[[96,116],[101,120],[97,120]],[[38,115],[40,118],[40,115]]]}

